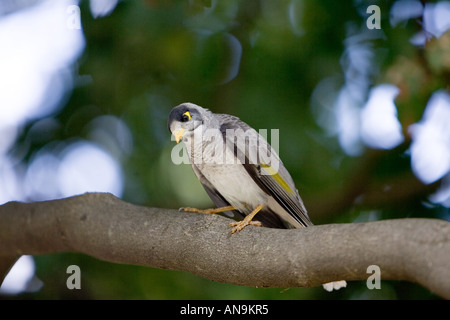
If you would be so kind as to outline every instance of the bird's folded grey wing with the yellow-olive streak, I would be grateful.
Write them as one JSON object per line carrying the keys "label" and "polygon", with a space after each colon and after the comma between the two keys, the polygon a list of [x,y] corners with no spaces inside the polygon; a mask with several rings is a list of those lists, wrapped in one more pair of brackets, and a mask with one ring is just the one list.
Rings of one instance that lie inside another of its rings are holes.
{"label": "bird's folded grey wing with the yellow-olive streak", "polygon": [[[220,130],[224,141],[228,140],[227,147],[233,148],[235,156],[255,183],[301,226],[311,226],[312,222],[291,175],[267,140],[237,117],[226,114],[217,116],[221,118]],[[231,131],[227,134],[229,129]]]}

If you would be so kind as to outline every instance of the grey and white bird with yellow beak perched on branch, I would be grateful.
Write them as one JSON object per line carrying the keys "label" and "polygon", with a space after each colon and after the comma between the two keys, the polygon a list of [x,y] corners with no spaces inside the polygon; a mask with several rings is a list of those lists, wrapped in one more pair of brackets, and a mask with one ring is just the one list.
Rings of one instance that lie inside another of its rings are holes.
{"label": "grey and white bird with yellow beak perched on branch", "polygon": [[[248,124],[235,116],[182,103],[170,112],[168,127],[177,143],[185,143],[192,169],[217,206],[184,211],[237,213],[244,219],[230,224],[231,233],[247,225],[313,225],[279,156]],[[258,221],[252,220],[255,215]],[[328,291],[345,286],[345,281],[324,284]]]}

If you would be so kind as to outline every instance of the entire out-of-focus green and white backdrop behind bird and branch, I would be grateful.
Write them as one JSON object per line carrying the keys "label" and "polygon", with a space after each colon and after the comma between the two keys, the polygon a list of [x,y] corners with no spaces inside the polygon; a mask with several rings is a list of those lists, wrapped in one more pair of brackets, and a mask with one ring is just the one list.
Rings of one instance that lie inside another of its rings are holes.
{"label": "entire out-of-focus green and white backdrop behind bird and branch", "polygon": [[[189,101],[279,129],[316,224],[449,220],[449,29],[449,1],[2,0],[0,203],[104,191],[211,207],[171,161],[167,116]],[[66,287],[74,264],[81,290]],[[240,287],[61,253],[22,257],[0,298],[436,297],[399,281]]]}

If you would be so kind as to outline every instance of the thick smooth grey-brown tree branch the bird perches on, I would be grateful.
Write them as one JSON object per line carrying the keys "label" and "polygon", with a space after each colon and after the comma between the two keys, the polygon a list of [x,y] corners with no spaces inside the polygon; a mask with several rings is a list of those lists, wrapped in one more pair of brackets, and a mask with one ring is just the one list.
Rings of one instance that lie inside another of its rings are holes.
{"label": "thick smooth grey-brown tree branch the bird perches on", "polygon": [[[450,223],[397,219],[282,230],[132,205],[105,193],[0,206],[0,276],[22,254],[81,252],[118,263],[189,271],[245,286],[310,287],[381,278],[450,298]],[[1,269],[3,268],[3,269]]]}

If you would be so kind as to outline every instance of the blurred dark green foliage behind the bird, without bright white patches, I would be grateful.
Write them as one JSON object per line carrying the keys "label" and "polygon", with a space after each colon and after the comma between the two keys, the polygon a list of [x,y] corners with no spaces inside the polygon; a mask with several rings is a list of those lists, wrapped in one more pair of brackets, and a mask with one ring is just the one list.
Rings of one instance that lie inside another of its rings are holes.
{"label": "blurred dark green foliage behind the bird, without bright white patches", "polygon": [[[370,42],[383,53],[374,57],[370,86],[387,82],[401,89],[396,104],[406,141],[392,150],[366,148],[359,156],[348,156],[336,137],[317,124],[311,94],[326,77],[344,84],[345,41],[352,30],[365,28],[369,3],[380,6],[384,33]],[[87,45],[75,66],[76,87],[52,115],[58,126],[34,140],[28,155],[52,141],[89,139],[87,124],[112,114],[125,121],[133,137],[132,151],[122,159],[125,201],[169,208],[211,207],[190,166],[175,166],[170,160],[174,142],[167,116],[173,106],[189,101],[239,116],[256,129],[279,128],[279,153],[316,223],[442,218],[448,209],[427,200],[438,184],[425,186],[411,172],[407,128],[421,119],[433,91],[448,89],[450,34],[431,39],[425,47],[412,45],[409,39],[421,29],[420,18],[392,27],[388,14],[392,3],[121,1],[111,15],[94,19],[88,2],[82,1]],[[23,128],[24,137],[33,124]],[[322,288],[239,287],[78,254],[35,260],[36,276],[44,287],[18,298],[434,297],[402,282],[382,282],[382,290],[368,290],[363,282],[349,283],[347,289],[329,294]],[[65,286],[65,271],[71,264],[82,270],[82,290],[69,291]]]}

